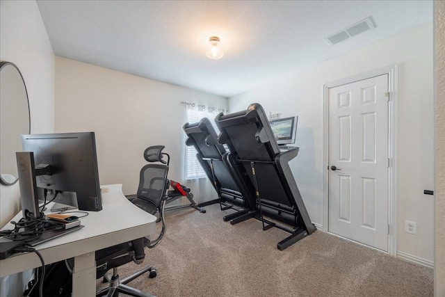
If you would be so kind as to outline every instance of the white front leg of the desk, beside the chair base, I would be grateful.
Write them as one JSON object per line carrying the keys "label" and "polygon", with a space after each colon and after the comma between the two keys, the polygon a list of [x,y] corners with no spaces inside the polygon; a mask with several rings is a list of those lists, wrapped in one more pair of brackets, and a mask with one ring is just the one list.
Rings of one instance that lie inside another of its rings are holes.
{"label": "white front leg of the desk, beside the chair base", "polygon": [[72,297],[96,296],[95,252],[74,257]]}

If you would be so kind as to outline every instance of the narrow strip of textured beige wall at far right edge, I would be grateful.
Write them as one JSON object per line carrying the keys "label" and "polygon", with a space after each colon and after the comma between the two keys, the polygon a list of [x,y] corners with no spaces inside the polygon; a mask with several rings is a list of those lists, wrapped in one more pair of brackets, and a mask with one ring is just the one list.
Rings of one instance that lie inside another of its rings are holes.
{"label": "narrow strip of textured beige wall at far right edge", "polygon": [[445,2],[435,1],[435,296],[445,296]]}

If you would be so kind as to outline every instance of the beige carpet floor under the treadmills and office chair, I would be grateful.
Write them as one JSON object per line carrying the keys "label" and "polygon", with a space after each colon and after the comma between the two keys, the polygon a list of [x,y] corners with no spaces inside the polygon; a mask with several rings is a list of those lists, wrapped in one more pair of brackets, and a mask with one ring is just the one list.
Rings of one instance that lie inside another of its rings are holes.
{"label": "beige carpet floor under the treadmills and office chair", "polygon": [[[433,296],[433,271],[317,231],[285,250],[289,233],[263,231],[259,220],[223,221],[219,205],[167,212],[167,233],[146,250],[158,275],[131,286],[158,297]],[[142,265],[144,265],[142,264]],[[127,264],[120,275],[141,268]],[[102,284],[97,282],[97,287]]]}

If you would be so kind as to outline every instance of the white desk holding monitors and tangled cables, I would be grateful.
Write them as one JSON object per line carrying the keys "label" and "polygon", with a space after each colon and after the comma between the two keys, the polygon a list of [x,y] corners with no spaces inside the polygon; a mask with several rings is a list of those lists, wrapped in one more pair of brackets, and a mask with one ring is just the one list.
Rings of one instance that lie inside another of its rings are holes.
{"label": "white desk holding monitors and tangled cables", "polygon": [[[60,236],[35,247],[45,264],[74,257],[72,297],[95,296],[95,251],[153,234],[156,217],[131,204],[122,193],[122,184],[101,186],[102,211],[88,211],[81,218],[81,230]],[[48,209],[51,209],[49,205]],[[22,218],[20,211],[13,220]],[[7,224],[2,229],[13,229]],[[0,260],[0,277],[40,267],[40,259],[33,252],[13,255]]]}

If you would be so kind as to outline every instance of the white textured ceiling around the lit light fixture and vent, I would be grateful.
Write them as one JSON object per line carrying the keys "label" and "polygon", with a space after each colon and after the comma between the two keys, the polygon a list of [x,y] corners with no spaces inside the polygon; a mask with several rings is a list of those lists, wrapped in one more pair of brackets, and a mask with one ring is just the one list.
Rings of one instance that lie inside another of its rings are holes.
{"label": "white textured ceiling around the lit light fixture and vent", "polygon": [[[432,22],[432,1],[38,1],[57,56],[232,97]],[[366,17],[376,28],[330,45]],[[204,55],[219,36],[225,56]]]}

